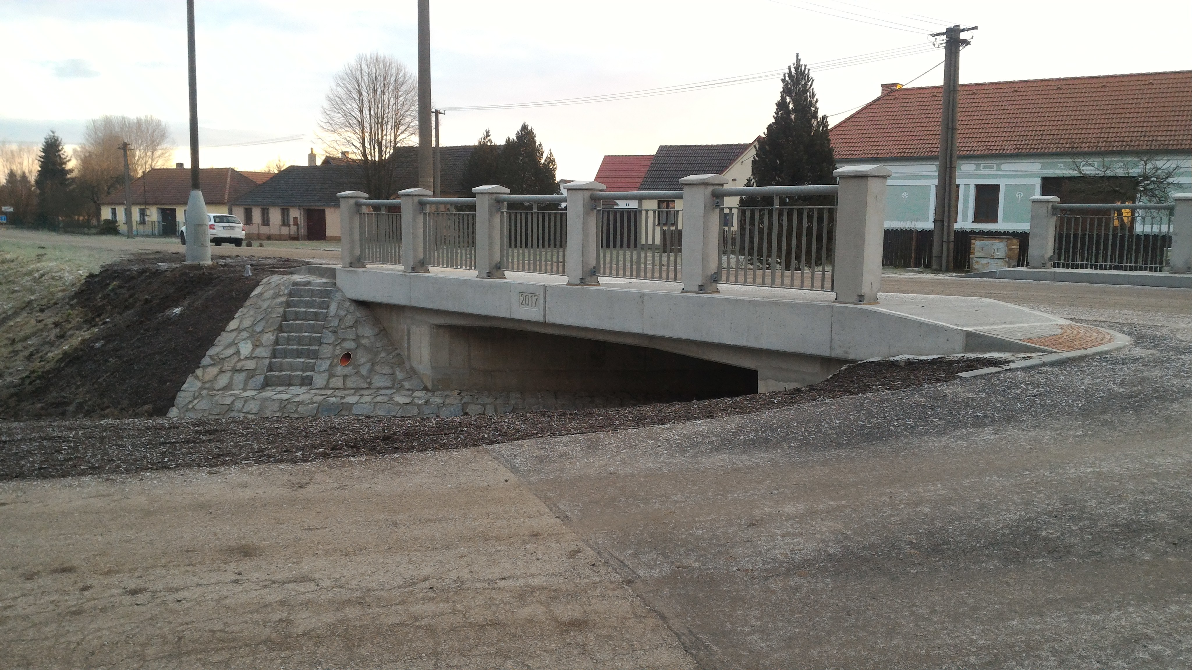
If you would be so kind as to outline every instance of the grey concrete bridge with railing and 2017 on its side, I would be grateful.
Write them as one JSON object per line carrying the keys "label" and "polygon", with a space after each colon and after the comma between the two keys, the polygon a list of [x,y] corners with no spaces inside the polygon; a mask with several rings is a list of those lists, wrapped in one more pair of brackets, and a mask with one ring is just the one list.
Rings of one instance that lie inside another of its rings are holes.
{"label": "grey concrete bridge with railing and 2017 on its side", "polygon": [[[432,390],[625,389],[677,374],[768,391],[870,358],[1054,350],[1049,339],[1073,328],[1062,318],[880,292],[889,174],[851,167],[839,185],[762,188],[693,175],[681,192],[341,193],[334,279]],[[682,209],[663,219],[610,206],[647,199]],[[647,243],[664,224],[681,242]],[[519,272],[538,267],[548,271]]]}

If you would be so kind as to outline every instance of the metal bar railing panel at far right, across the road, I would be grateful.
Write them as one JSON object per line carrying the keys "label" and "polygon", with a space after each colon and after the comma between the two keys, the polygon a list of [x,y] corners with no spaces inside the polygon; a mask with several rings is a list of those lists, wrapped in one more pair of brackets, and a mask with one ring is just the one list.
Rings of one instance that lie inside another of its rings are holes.
{"label": "metal bar railing panel at far right, across the road", "polygon": [[1055,205],[1053,267],[1163,272],[1171,204]]}

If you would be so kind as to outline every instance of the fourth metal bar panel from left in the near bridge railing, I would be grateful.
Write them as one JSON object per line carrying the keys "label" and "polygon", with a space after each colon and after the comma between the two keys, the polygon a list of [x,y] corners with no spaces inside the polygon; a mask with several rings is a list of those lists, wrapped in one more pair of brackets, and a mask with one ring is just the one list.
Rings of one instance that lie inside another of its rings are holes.
{"label": "fourth metal bar panel from left in the near bridge railing", "polygon": [[681,281],[683,210],[601,209],[597,267],[602,277]]}

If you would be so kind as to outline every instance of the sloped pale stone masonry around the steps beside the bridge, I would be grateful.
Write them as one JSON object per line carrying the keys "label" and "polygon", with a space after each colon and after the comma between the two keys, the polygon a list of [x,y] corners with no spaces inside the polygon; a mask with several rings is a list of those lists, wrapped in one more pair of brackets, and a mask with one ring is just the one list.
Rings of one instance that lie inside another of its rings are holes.
{"label": "sloped pale stone masonry around the steps beside the bridge", "polygon": [[[309,386],[269,385],[278,379],[303,378],[275,372],[287,355],[285,345],[278,343],[287,299],[302,293],[291,291],[294,287],[331,289],[323,331],[317,337],[318,355],[312,361],[312,374],[306,377]],[[348,365],[340,364],[344,353],[352,354]],[[273,275],[261,281],[216,339],[199,368],[182,385],[169,416],[446,417],[638,402],[628,395],[608,393],[427,391],[367,308],[348,299],[333,281]]]}

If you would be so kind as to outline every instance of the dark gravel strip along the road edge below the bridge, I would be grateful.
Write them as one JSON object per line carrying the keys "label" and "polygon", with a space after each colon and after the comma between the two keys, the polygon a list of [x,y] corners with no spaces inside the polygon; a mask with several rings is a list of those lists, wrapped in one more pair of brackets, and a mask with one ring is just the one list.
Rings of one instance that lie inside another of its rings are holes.
{"label": "dark gravel strip along the road edge below the bridge", "polygon": [[966,380],[957,380],[956,373],[998,362],[988,358],[862,362],[814,386],[791,391],[634,408],[498,416],[0,422],[0,480],[300,463],[641,428],[940,381],[964,384]]}

